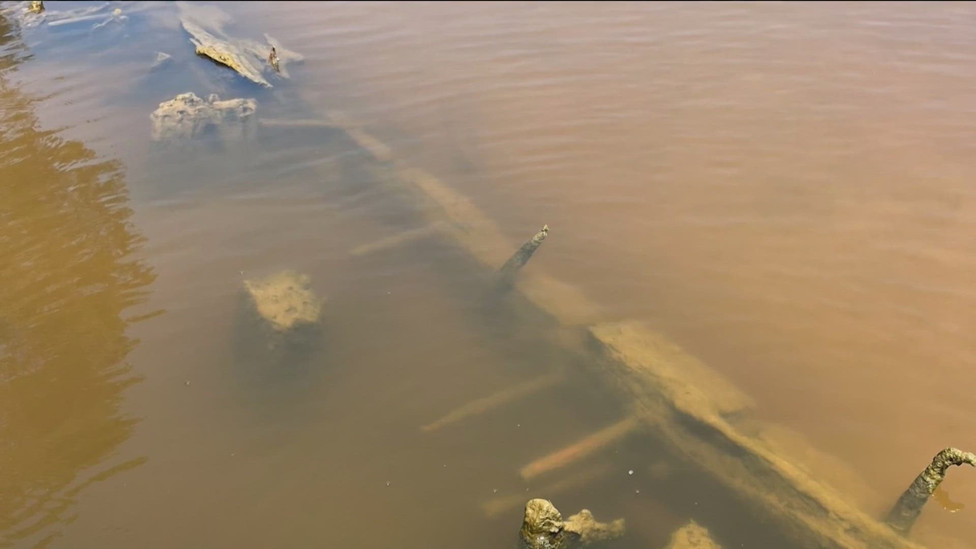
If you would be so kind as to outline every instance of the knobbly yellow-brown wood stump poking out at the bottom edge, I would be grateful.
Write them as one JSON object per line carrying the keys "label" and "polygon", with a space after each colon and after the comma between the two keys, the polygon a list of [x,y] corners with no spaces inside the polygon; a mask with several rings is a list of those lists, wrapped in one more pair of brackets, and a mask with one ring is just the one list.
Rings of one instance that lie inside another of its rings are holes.
{"label": "knobbly yellow-brown wood stump poking out at the bottom edge", "polygon": [[563,521],[548,499],[531,499],[519,531],[520,549],[570,549],[618,537],[624,530],[624,519],[599,523],[587,509]]}

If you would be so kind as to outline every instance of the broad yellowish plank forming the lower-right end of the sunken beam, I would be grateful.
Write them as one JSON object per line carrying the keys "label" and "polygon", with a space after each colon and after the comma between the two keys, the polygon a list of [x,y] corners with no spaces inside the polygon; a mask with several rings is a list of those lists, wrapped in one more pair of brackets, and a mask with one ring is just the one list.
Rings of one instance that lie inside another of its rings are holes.
{"label": "broad yellowish plank forming the lower-right end of the sunken beam", "polygon": [[[778,527],[799,547],[917,547],[807,475],[727,418],[738,403],[724,380],[696,379],[675,367],[678,349],[636,322],[590,329],[606,351],[601,371],[630,401],[652,435],[681,459],[697,463]],[[688,362],[689,364],[691,362]],[[704,367],[704,364],[702,365]]]}

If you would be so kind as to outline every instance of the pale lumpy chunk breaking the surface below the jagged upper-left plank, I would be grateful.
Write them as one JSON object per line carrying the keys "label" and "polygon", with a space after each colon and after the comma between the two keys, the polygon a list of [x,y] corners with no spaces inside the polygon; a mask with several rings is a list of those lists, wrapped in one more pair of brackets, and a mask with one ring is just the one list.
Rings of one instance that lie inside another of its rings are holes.
{"label": "pale lumpy chunk breaking the surface below the jagged upper-left plank", "polygon": [[243,139],[254,131],[257,108],[253,99],[222,101],[217,94],[211,94],[202,100],[193,92],[186,92],[159,104],[149,116],[152,139],[174,141],[212,132],[222,138]]}

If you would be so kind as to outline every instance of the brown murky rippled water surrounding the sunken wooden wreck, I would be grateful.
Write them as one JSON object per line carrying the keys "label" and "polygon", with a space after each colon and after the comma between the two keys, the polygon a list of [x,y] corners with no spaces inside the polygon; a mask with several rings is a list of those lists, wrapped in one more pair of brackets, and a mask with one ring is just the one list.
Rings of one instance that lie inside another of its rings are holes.
{"label": "brown murky rippled water surrounding the sunken wooden wreck", "polygon": [[[566,359],[486,313],[444,242],[350,255],[417,222],[345,134],[152,144],[185,91],[340,109],[512,242],[548,223],[530,269],[728,376],[872,513],[976,447],[974,5],[225,3],[305,56],[273,91],[197,60],[175,6],[118,7],[0,19],[0,546],[507,547],[529,495],[626,517],[620,547],[699,504],[763,546],[640,441],[567,473],[595,482],[522,481],[619,403],[546,382]],[[268,369],[240,283],[285,268],[328,296],[325,336]],[[976,474],[943,487],[915,537],[976,547]]]}

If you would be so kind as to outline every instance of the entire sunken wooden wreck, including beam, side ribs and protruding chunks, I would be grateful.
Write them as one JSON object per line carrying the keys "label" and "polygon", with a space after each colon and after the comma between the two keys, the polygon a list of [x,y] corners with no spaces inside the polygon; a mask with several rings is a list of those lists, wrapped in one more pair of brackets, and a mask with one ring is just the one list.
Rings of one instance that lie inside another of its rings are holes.
{"label": "entire sunken wooden wreck, including beam, side ribs and protruding chunks", "polygon": [[[219,24],[182,9],[183,30],[189,35],[187,47],[254,84],[270,87],[274,78],[288,76],[288,62],[301,60],[269,37],[265,42],[232,40]],[[311,95],[305,96],[301,89],[282,92],[279,98],[293,109],[304,105],[311,110],[313,105]],[[254,112],[255,104],[250,100],[221,101],[216,96],[202,100],[187,94],[161,106],[153,117],[154,136],[161,140],[192,138],[203,132],[220,132],[217,127],[227,124],[234,125],[235,132],[248,133],[241,128],[253,123]],[[797,456],[781,451],[778,437],[782,430],[757,419],[749,397],[717,371],[645,323],[608,321],[577,288],[539,270],[524,269],[550,237],[548,226],[515,249],[467,197],[396,157],[381,140],[341,112],[309,112],[305,120],[274,125],[321,126],[338,131],[362,149],[370,169],[382,175],[380,179],[413,202],[409,211],[419,218],[422,227],[392,234],[380,242],[354,243],[350,250],[353,256],[383,253],[419,238],[447,242],[470,269],[483,274],[489,299],[497,309],[504,309],[531,345],[551,350],[553,356],[571,358],[556,370],[539,372],[535,380],[445,410],[443,417],[431,418],[421,427],[418,436],[435,437],[442,429],[530,398],[567,378],[587,376],[614,392],[625,403],[626,413],[580,441],[529,460],[516,472],[523,479],[557,478],[570,465],[590,459],[609,444],[648,438],[662,448],[664,468],[680,467],[718,486],[738,510],[773,531],[771,536],[781,540],[782,546],[810,549],[919,548],[921,545],[910,537],[911,529],[935,487],[951,466],[976,466],[972,453],[946,448],[900,498],[892,494],[894,503],[887,516],[873,516],[810,474]],[[552,234],[557,232],[558,228]],[[317,326],[321,320],[321,302],[310,293],[308,279],[301,274],[285,272],[249,280],[245,293],[249,307],[264,322],[270,347],[280,345],[281,338]],[[569,486],[598,483],[603,473],[596,465],[583,474],[553,480],[547,498]],[[565,549],[624,535],[623,522],[599,523],[586,510],[563,520],[548,499],[532,499],[526,504],[524,499],[500,498],[486,501],[483,510],[492,515],[513,505],[524,505],[518,541],[522,547]],[[694,517],[684,527],[669,532],[669,547],[721,546],[720,528],[713,528],[713,519],[707,514]]]}

